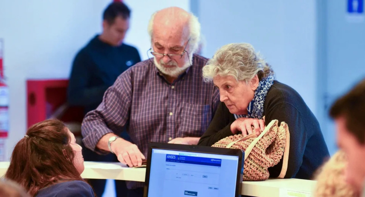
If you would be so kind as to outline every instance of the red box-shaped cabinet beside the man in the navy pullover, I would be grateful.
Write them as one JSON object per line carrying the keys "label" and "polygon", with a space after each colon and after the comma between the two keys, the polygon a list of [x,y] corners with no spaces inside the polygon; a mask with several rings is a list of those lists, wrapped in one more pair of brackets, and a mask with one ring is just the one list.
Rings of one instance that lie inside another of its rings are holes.
{"label": "red box-shaped cabinet beside the man in the navy pullover", "polygon": [[[68,80],[27,80],[27,128],[54,116],[66,105]],[[82,122],[81,107],[65,107],[58,119],[64,122]]]}

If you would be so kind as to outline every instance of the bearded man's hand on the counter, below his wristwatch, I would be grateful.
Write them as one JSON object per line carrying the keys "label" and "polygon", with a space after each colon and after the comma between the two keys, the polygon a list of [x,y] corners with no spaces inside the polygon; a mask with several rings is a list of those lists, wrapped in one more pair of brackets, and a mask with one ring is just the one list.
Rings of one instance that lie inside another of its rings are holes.
{"label": "bearded man's hand on the counter, below his wristwatch", "polygon": [[116,139],[110,144],[110,147],[117,156],[118,161],[128,165],[129,167],[141,166],[142,159],[146,159],[142,152],[138,149],[137,145],[122,138]]}

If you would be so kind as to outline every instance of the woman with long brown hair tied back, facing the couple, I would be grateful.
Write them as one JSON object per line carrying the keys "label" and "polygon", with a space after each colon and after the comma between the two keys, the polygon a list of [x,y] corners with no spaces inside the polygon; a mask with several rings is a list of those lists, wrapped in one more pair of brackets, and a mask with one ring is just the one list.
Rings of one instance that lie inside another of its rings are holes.
{"label": "woman with long brown hair tied back, facing the couple", "polygon": [[35,197],[93,197],[93,189],[80,176],[84,171],[81,149],[61,121],[34,124],[15,145],[5,178]]}

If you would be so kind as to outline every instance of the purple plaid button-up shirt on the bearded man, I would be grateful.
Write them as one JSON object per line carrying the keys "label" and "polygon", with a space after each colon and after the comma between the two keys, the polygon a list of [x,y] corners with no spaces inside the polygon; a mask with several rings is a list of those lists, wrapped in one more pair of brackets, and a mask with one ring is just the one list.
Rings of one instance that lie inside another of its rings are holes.
{"label": "purple plaid button-up shirt on the bearded man", "polygon": [[[147,156],[149,142],[200,137],[218,107],[219,90],[203,81],[207,58],[194,54],[192,66],[170,84],[153,59],[139,62],[122,73],[104,94],[97,109],[82,122],[82,140],[91,150],[105,134],[119,135],[124,125],[133,143]],[[128,188],[143,187],[128,183]]]}

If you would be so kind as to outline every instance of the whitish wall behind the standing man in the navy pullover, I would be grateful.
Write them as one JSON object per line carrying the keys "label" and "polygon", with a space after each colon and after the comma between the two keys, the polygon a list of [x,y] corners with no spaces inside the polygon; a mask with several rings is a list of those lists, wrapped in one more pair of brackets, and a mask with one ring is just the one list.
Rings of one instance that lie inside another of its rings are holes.
{"label": "whitish wall behind the standing man in the navy pullover", "polygon": [[[67,78],[74,55],[101,31],[104,8],[111,0],[18,0],[0,1],[0,38],[4,39],[4,66],[9,85],[10,131],[6,143],[12,148],[26,131],[26,80]],[[140,50],[142,59],[150,48],[147,23],[161,8],[189,8],[188,0],[125,0],[132,9],[126,42]]]}

